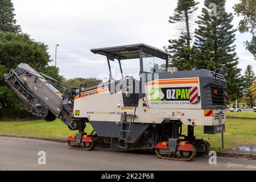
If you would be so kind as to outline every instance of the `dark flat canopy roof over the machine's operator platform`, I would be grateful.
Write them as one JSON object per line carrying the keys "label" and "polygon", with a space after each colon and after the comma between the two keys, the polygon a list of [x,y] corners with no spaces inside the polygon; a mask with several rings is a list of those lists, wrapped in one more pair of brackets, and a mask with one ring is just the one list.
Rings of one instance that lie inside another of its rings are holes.
{"label": "dark flat canopy roof over the machine's operator platform", "polygon": [[153,56],[157,56],[163,59],[168,59],[169,53],[164,52],[158,48],[148,46],[146,44],[131,44],[126,46],[117,47],[106,47],[90,49],[93,53],[98,53],[109,57],[110,59],[138,59],[139,58],[139,48],[142,48],[143,52],[149,53]]}

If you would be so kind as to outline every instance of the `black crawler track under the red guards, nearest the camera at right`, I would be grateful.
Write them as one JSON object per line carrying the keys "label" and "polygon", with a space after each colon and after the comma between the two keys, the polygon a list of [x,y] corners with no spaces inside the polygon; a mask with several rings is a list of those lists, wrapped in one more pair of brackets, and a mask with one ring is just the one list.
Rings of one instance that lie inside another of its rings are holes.
{"label": "black crawler track under the red guards, nearest the camera at right", "polygon": [[169,153],[161,154],[160,150],[162,150],[162,149],[160,149],[160,148],[156,148],[155,153],[160,159],[189,161],[189,160],[192,160],[193,158],[195,158],[195,156],[196,156],[196,148],[192,144],[189,144],[189,145],[193,148],[193,151],[180,151],[179,155],[169,154]]}

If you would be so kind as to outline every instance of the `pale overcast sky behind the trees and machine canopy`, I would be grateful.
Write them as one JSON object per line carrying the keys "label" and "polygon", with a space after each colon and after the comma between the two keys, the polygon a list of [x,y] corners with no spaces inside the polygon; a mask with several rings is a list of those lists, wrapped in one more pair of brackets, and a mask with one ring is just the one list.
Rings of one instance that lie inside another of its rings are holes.
{"label": "pale overcast sky behind the trees and machine canopy", "polygon": [[[22,31],[47,44],[51,59],[55,59],[55,45],[60,45],[57,66],[65,78],[108,76],[105,57],[94,55],[91,48],[145,43],[162,49],[168,45],[169,39],[178,35],[175,25],[168,23],[177,0],[12,1]],[[203,6],[203,0],[199,2],[197,15],[201,14]],[[233,13],[232,7],[237,2],[239,0],[228,0],[226,10]],[[239,20],[234,17],[235,27]],[[244,71],[251,64],[256,72],[256,61],[243,47],[243,42],[250,38],[250,34],[237,32],[238,67]],[[133,67],[138,67],[138,64],[125,62],[123,69],[126,73],[134,72]],[[113,68],[117,69],[117,65]]]}

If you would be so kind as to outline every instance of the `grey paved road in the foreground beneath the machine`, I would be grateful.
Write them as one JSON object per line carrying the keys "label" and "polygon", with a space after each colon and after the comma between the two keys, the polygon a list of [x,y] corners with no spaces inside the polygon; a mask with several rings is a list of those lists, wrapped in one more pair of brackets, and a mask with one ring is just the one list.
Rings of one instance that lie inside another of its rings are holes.
{"label": "grey paved road in the foreground beneath the machine", "polygon": [[[46,165],[38,164],[38,151],[46,151]],[[159,159],[152,152],[121,152],[97,147],[77,151],[65,143],[0,137],[0,170],[256,170],[256,160],[208,157],[191,162]]]}

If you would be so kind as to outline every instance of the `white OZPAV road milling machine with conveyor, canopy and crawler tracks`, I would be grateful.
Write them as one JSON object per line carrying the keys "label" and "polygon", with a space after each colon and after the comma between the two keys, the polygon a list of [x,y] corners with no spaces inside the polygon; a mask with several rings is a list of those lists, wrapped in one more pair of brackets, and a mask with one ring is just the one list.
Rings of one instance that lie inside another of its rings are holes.
{"label": "white OZPAV road milling machine with conveyor, canopy and crawler tracks", "polygon": [[[5,75],[5,81],[30,113],[46,121],[59,118],[69,129],[79,130],[68,137],[72,149],[155,150],[159,158],[183,161],[208,155],[210,144],[195,138],[194,127],[203,126],[205,134],[225,131],[222,74],[177,71],[169,67],[167,52],[146,44],[91,51],[106,56],[109,81],[90,88],[81,84],[61,93],[52,78],[23,63]],[[138,61],[137,79],[123,74],[123,60]],[[119,64],[120,80],[112,76],[111,61]],[[92,133],[85,133],[88,123]],[[183,135],[184,125],[187,135]]]}

